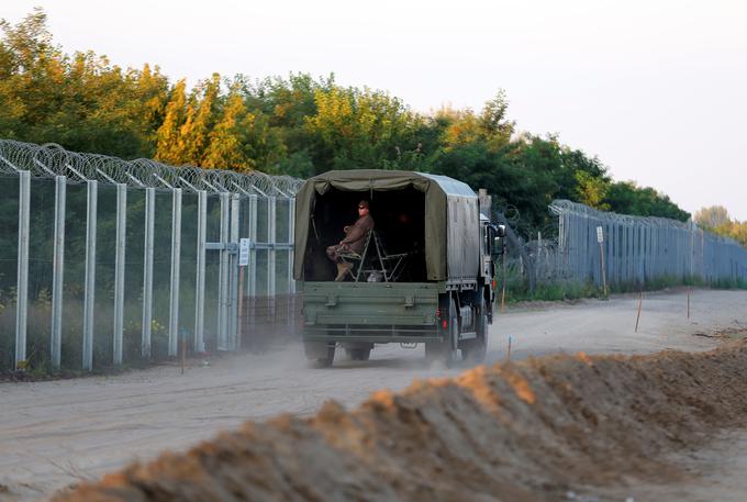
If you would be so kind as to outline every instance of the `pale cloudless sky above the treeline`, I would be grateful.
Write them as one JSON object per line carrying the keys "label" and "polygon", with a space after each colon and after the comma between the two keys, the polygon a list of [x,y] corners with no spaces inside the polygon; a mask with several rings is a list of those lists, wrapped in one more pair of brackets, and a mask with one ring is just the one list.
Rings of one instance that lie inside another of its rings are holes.
{"label": "pale cloudless sky above the treeline", "polygon": [[747,2],[740,0],[3,0],[65,52],[159,65],[190,85],[334,72],[416,111],[505,89],[522,131],[556,133],[687,211],[747,220]]}

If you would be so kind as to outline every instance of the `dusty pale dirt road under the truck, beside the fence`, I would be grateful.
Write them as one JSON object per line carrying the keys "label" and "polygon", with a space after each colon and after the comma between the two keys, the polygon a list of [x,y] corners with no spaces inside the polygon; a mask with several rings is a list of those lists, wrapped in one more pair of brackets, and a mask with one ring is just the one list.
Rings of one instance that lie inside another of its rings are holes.
{"label": "dusty pale dirt road under the truck, beside the fence", "polygon": [[[684,291],[637,298],[511,309],[492,326],[488,361],[557,352],[644,354],[705,350],[715,332],[747,328],[747,292],[696,290],[691,319]],[[280,412],[308,415],[327,399],[345,406],[371,391],[401,390],[413,379],[453,377],[465,369],[426,367],[422,349],[377,347],[368,362],[339,360],[328,370],[306,368],[300,346],[261,356],[202,361],[180,375],[161,366],[113,377],[0,384],[0,500],[32,500],[54,490],[182,450],[247,419]],[[660,499],[664,500],[664,499]],[[673,500],[673,499],[672,499]]]}

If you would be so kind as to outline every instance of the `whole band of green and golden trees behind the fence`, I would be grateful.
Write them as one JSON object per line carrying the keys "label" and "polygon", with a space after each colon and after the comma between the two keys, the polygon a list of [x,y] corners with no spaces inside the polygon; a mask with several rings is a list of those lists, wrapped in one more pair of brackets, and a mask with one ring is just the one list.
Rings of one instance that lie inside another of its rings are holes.
{"label": "whole band of green and golden trees behind the fence", "polygon": [[298,177],[342,168],[445,174],[516,208],[527,231],[547,223],[556,198],[689,217],[654,189],[613,181],[598,158],[557,137],[517,133],[502,91],[479,112],[421,114],[387,92],[342,87],[334,76],[213,75],[188,89],[158,67],[125,70],[91,52],[64,54],[41,10],[0,27],[0,137]]}

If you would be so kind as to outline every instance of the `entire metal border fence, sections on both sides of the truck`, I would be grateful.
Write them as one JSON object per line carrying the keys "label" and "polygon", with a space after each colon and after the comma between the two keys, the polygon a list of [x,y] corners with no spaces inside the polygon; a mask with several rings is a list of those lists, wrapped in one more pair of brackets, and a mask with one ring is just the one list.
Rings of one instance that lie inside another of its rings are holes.
{"label": "entire metal border fence, sections on both sides of the truck", "polygon": [[[0,370],[92,370],[292,333],[301,183],[0,140]],[[529,289],[747,281],[747,250],[692,223],[562,200],[550,211],[557,227],[536,239],[509,232],[500,269]]]}

